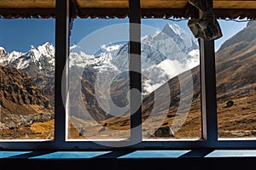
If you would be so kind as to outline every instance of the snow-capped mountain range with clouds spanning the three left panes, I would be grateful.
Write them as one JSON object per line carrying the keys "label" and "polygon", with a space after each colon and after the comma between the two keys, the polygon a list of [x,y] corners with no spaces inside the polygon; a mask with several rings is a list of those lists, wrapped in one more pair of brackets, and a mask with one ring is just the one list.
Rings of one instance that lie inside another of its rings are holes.
{"label": "snow-capped mountain range with clouds spanning the three left panes", "polygon": [[[97,55],[88,55],[82,51],[73,50],[75,48],[76,46],[70,48],[69,67],[90,66],[99,73],[111,76],[106,76],[106,80],[102,82],[109,81],[109,78],[113,78],[113,75],[122,71],[128,71],[128,42],[119,46],[115,44],[114,48],[105,47],[111,50]],[[27,53],[14,51],[9,54],[4,48],[0,48],[0,65],[9,65],[32,75],[39,73],[54,77],[55,48],[49,42],[38,48],[32,47]],[[143,95],[151,93],[172,77],[196,65],[199,65],[197,42],[180,26],[166,24],[162,31],[153,36],[143,37]]]}

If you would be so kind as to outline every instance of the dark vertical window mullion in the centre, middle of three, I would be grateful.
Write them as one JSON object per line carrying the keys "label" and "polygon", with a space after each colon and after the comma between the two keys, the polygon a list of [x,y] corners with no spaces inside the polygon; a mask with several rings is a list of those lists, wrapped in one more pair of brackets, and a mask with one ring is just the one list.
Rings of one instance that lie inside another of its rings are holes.
{"label": "dark vertical window mullion in the centre, middle of three", "polygon": [[[140,0],[129,0],[129,75],[131,140],[142,141],[142,76]],[[139,92],[139,93],[138,93]],[[139,105],[139,106],[138,106]],[[138,108],[138,109],[137,109]]]}

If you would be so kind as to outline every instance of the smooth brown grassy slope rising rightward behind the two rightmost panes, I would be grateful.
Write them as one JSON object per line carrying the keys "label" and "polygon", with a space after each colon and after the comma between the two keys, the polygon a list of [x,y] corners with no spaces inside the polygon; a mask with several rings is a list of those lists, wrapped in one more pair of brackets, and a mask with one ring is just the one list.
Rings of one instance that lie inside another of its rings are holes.
{"label": "smooth brown grassy slope rising rightward behind the two rightmost panes", "polygon": [[[216,53],[216,77],[218,99],[218,133],[220,138],[255,137],[256,132],[256,22],[249,22],[247,27],[234,37],[224,42]],[[148,138],[148,127],[172,127],[175,138],[201,138],[201,92],[200,70],[196,66],[191,70],[192,79],[182,83],[188,86],[193,80],[193,100],[185,122],[175,120],[180,102],[180,82],[178,77],[169,80],[170,93],[163,90],[164,86],[157,88],[154,93],[143,99],[143,136]],[[185,73],[179,77],[185,76]],[[189,77],[187,77],[189,78]],[[186,78],[184,78],[186,80]],[[163,107],[164,103],[154,105],[154,94],[157,98],[167,99],[172,96],[172,102],[166,110],[166,118],[161,122],[163,112],[156,114],[150,122],[146,122],[152,110]],[[186,100],[186,99],[184,99]],[[178,118],[177,118],[178,119]],[[108,128],[116,130],[129,129],[130,118],[112,117],[104,121]],[[160,122],[160,126],[159,126]],[[179,124],[180,123],[180,124]],[[180,127],[182,125],[182,127]],[[149,131],[151,132],[151,131]],[[121,133],[119,134],[121,135]],[[149,134],[155,137],[154,133]],[[164,133],[162,133],[164,136]],[[149,136],[150,137],[150,136]],[[169,135],[169,138],[172,135]]]}

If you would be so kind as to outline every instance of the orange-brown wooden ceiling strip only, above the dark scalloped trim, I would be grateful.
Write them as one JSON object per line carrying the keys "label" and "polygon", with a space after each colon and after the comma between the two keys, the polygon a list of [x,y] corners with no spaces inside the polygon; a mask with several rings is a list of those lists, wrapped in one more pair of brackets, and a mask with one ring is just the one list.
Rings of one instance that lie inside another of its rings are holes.
{"label": "orange-brown wooden ceiling strip only, above the dark scalloped trim", "polygon": [[[80,8],[128,8],[128,0],[77,0]],[[187,0],[141,0],[141,8],[184,8]],[[0,8],[55,8],[55,0],[1,0]],[[213,8],[256,8],[255,0],[213,0]]]}

